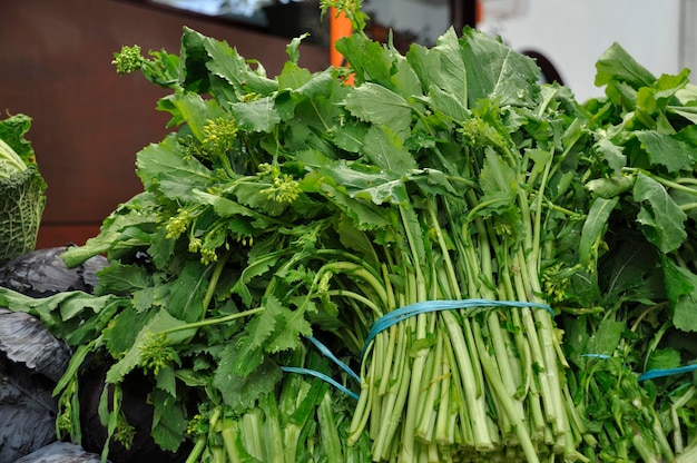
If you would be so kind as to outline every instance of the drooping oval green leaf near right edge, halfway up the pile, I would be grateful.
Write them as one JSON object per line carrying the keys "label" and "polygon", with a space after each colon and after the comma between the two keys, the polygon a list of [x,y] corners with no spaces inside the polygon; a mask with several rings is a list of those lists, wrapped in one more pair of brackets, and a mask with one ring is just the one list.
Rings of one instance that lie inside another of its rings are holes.
{"label": "drooping oval green leaf near right edge, halfway up the pile", "polygon": [[661,184],[644,174],[637,175],[632,194],[635,201],[641,204],[637,223],[647,239],[661,253],[676,250],[687,237],[687,215]]}

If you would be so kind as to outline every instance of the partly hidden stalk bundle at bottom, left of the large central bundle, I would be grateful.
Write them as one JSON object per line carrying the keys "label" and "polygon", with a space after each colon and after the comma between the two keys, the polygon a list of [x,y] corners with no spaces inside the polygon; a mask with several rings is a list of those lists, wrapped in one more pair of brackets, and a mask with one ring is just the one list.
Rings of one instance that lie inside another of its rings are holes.
{"label": "partly hidden stalk bundle at bottom, left of the large central bundle", "polygon": [[369,462],[366,435],[346,445],[354,402],[320,377],[335,373],[326,357],[300,348],[288,361],[296,370],[249,408],[235,411],[210,396],[189,424],[196,444],[187,462]]}

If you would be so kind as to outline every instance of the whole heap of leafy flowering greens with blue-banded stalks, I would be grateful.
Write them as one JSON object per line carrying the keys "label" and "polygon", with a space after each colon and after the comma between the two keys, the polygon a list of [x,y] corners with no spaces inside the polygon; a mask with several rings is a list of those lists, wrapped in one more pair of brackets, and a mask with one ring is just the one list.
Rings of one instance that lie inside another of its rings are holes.
{"label": "whole heap of leafy flowering greens with blue-banded stalks", "polygon": [[301,37],[269,78],[188,28],[178,56],[116,55],[171,89],[175,130],[63,255],[110,266],[95,296],[0,292],[75,347],[59,432],[98,355],[110,439],[140,370],[155,442],[190,462],[691,461],[688,71],[612,45],[581,105],[477,30],[401,55],[338,3],[350,68],[300,67]]}

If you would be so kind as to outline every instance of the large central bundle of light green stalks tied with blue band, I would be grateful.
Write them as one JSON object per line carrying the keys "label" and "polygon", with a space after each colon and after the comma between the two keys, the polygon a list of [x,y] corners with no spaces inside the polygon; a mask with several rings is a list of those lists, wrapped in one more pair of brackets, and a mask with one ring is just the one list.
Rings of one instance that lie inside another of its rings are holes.
{"label": "large central bundle of light green stalks tied with blue band", "polygon": [[[374,252],[385,275],[376,294],[389,295],[387,312],[362,357],[352,427],[356,435],[369,427],[375,461],[582,459],[560,333],[540,287],[540,227],[550,220],[563,227],[565,217],[575,227],[580,221],[550,207],[546,191],[550,176],[565,174],[561,160],[579,137],[554,146],[539,134],[539,145],[518,147],[514,137],[532,137],[500,125],[516,110],[478,108],[457,129],[441,131],[452,137],[448,146],[460,147],[448,154],[457,166],[450,185],[434,194],[415,177],[406,205],[382,205],[403,239]],[[546,108],[538,110],[543,118]],[[445,156],[439,150],[420,156],[433,162]],[[391,283],[397,275],[399,286]],[[383,324],[397,308],[408,314],[397,311],[396,324]]]}

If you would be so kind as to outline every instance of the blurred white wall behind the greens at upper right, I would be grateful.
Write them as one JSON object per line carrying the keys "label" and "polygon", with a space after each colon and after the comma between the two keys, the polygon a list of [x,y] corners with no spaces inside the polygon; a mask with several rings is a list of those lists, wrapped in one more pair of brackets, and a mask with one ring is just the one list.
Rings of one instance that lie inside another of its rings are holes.
{"label": "blurred white wall behind the greens at upper right", "polygon": [[602,95],[595,63],[613,41],[656,76],[684,66],[680,0],[484,0],[479,29],[543,53],[581,101]]}

